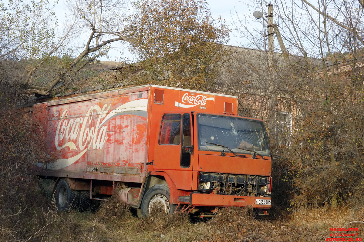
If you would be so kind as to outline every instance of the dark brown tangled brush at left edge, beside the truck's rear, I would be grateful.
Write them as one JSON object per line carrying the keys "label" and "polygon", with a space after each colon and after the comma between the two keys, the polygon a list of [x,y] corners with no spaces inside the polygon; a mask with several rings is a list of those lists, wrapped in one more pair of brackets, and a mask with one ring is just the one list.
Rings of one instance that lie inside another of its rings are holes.
{"label": "dark brown tangled brush at left edge, beside the truck's rear", "polygon": [[14,107],[9,93],[0,92],[0,101],[0,240],[26,240],[43,226],[42,207],[47,204],[29,167],[47,157],[27,113]]}

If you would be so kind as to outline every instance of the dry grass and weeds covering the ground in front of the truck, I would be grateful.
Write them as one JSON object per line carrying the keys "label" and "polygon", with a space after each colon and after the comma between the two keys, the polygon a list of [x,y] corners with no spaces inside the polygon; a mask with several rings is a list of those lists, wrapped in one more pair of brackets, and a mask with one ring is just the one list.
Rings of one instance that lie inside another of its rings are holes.
{"label": "dry grass and weeds covering the ground in front of the truck", "polygon": [[[42,189],[40,189],[42,190]],[[19,217],[21,229],[0,226],[0,241],[79,242],[299,242],[325,241],[330,227],[358,227],[363,237],[364,209],[302,210],[295,213],[273,208],[270,216],[258,216],[251,208],[220,209],[215,218],[192,223],[186,214],[152,211],[147,218],[131,215],[117,198],[102,203],[95,213],[77,210],[59,213],[55,204],[33,210],[31,223]],[[30,226],[32,225],[32,226]]]}

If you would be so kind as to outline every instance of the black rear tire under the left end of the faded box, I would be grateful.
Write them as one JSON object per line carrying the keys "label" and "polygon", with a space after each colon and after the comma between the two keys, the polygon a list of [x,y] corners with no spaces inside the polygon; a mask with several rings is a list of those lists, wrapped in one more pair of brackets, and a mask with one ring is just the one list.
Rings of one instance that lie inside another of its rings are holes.
{"label": "black rear tire under the left end of the faded box", "polygon": [[79,193],[72,190],[66,178],[62,178],[56,185],[54,194],[58,211],[72,209],[79,203]]}

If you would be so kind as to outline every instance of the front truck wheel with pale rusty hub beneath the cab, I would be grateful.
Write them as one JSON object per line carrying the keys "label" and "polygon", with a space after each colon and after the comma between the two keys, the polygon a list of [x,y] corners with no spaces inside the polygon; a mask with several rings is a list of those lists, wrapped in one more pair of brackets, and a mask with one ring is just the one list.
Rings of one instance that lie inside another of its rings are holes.
{"label": "front truck wheel with pale rusty hub beneath the cab", "polygon": [[143,197],[141,204],[141,212],[143,217],[147,217],[150,214],[153,206],[157,206],[166,214],[172,214],[175,210],[175,205],[169,201],[169,187],[167,184],[158,184],[152,186]]}

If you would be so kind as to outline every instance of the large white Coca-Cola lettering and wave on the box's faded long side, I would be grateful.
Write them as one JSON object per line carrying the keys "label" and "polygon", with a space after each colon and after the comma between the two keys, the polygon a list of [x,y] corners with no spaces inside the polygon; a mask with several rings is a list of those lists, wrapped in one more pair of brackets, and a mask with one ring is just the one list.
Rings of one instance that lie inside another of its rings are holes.
{"label": "large white Coca-Cola lettering and wave on the box's faded long side", "polygon": [[[70,150],[79,150],[80,153],[70,158],[58,159],[56,162],[47,164],[34,163],[36,166],[40,166],[50,170],[63,169],[69,165],[75,163],[81,158],[87,150],[91,147],[92,149],[102,149],[106,143],[106,130],[107,126],[104,125],[108,120],[119,115],[134,114],[146,117],[148,99],[139,99],[127,102],[108,112],[110,105],[104,104],[101,108],[98,105],[91,106],[88,109],[85,117],[83,118],[71,118],[65,119],[68,115],[68,109],[65,109],[60,117],[57,125],[55,134],[55,146],[57,150],[62,150],[65,147]],[[93,127],[87,126],[91,123],[89,118],[91,115],[98,116],[96,125]],[[59,142],[66,142],[60,146]],[[77,145],[79,148],[77,148]]]}

